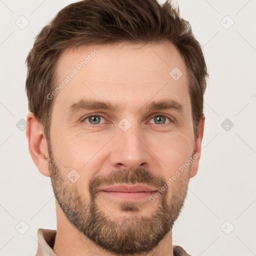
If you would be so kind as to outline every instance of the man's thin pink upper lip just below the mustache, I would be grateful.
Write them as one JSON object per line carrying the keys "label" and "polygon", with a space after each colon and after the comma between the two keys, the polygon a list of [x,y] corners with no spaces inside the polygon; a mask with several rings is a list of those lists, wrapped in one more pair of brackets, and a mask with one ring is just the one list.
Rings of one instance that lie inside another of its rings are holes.
{"label": "man's thin pink upper lip just below the mustache", "polygon": [[135,192],[154,192],[157,191],[158,188],[149,187],[143,184],[136,185],[126,185],[126,184],[118,184],[113,186],[101,187],[100,191],[107,192],[125,192],[125,193],[135,193]]}

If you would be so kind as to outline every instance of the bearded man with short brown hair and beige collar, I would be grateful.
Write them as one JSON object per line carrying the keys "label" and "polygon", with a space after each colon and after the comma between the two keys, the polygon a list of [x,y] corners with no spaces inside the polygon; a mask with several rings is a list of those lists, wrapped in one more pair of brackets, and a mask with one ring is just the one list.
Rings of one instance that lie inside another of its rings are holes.
{"label": "bearded man with short brown hair and beige collar", "polygon": [[57,230],[36,255],[189,255],[172,226],[198,170],[207,70],[169,2],[83,0],[27,56],[26,136]]}

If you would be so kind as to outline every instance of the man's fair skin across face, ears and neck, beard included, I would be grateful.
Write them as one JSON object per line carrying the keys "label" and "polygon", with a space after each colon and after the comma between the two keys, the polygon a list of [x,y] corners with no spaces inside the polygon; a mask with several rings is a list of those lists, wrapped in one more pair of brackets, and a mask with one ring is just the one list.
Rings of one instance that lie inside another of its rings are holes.
{"label": "man's fair skin across face, ears and neck, beard included", "polygon": [[[53,251],[61,256],[172,256],[172,224],[182,208],[189,178],[198,170],[200,155],[171,185],[166,181],[193,153],[200,152],[205,117],[195,139],[185,64],[170,42],[67,49],[57,62],[57,84],[95,48],[99,50],[95,57],[54,96],[48,143],[42,124],[31,112],[27,115],[31,157],[39,171],[51,177],[56,197]],[[173,67],[183,73],[178,80],[169,75]],[[166,98],[182,104],[184,113],[145,108],[152,100]],[[120,109],[83,109],[68,116],[67,108],[79,99],[110,101]],[[85,119],[89,114],[102,116],[99,126]],[[166,116],[163,124],[154,119],[159,115]],[[126,131],[118,126],[123,118],[131,124]],[[80,175],[75,182],[67,178],[72,169]],[[148,198],[129,202],[98,192],[113,180],[132,184],[132,179],[157,188],[165,184],[167,189],[153,202]],[[92,223],[95,228],[89,233]]]}

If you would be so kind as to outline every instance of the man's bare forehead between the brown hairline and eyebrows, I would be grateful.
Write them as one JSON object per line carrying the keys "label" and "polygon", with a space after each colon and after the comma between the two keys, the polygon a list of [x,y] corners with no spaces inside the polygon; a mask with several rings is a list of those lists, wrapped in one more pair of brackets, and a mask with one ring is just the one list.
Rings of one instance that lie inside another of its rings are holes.
{"label": "man's bare forehead between the brown hairline and eyebrows", "polygon": [[123,108],[132,105],[134,111],[150,99],[168,95],[189,103],[185,64],[170,42],[66,49],[56,63],[56,78],[56,87],[62,86],[54,95],[53,109],[63,112],[81,99],[112,101]]}

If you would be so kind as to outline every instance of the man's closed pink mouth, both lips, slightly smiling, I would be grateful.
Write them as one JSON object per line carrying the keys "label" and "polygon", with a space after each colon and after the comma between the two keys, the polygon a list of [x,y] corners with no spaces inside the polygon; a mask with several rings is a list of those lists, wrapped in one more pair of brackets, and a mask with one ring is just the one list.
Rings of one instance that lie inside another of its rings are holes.
{"label": "man's closed pink mouth, both lips, slightly smiling", "polygon": [[137,185],[114,185],[109,187],[102,187],[100,192],[107,196],[115,197],[122,200],[141,200],[148,198],[154,194],[158,189],[155,187],[148,187],[143,184]]}

